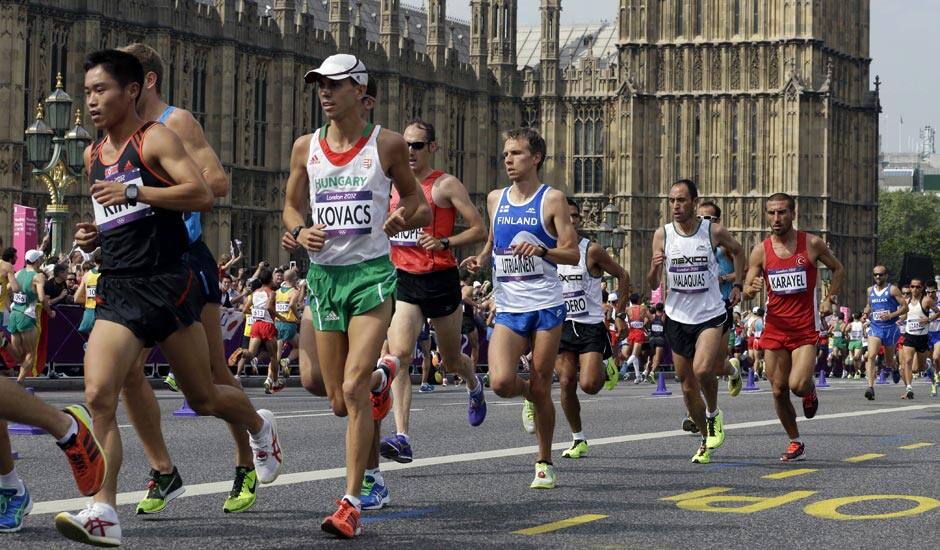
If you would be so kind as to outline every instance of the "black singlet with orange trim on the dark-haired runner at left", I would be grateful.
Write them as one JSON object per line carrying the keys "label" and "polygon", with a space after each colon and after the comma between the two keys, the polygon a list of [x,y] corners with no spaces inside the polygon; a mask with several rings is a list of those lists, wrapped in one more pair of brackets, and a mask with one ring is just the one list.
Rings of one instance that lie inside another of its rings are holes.
{"label": "black singlet with orange trim on the dark-haired runner at left", "polygon": [[[173,185],[147,166],[142,157],[144,137],[156,124],[148,121],[134,132],[114,164],[106,165],[101,160],[105,140],[96,142],[91,153],[90,183],[106,179],[129,182],[139,177],[138,186]],[[126,204],[108,208],[96,205],[102,274],[148,276],[182,265],[189,245],[182,213],[140,204],[136,209]]]}

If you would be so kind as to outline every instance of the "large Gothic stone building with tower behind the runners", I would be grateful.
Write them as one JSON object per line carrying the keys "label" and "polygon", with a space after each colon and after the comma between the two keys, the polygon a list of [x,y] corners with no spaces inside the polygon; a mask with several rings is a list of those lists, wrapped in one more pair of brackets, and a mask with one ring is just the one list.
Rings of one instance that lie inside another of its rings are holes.
{"label": "large Gothic stone building with tower behind the runners", "polygon": [[[85,53],[143,41],[166,62],[164,94],[192,110],[231,175],[205,218],[217,252],[286,261],[280,209],[293,140],[323,118],[303,74],[337,51],[379,82],[373,119],[438,127],[435,163],[483,207],[506,183],[500,132],[538,128],[545,181],[597,213],[612,200],[629,229],[636,286],[668,220],[669,183],[691,177],[750,247],[766,233],[763,199],[797,197],[798,226],[822,234],[848,267],[859,305],[875,261],[878,92],[869,90],[869,0],[621,0],[609,20],[561,26],[541,0],[537,27],[516,0],[0,0],[0,236],[12,203],[43,210],[23,130],[61,73],[82,98]],[[89,124],[90,128],[90,124]],[[93,130],[92,128],[90,128]],[[67,193],[72,222],[91,219],[87,186]],[[70,236],[66,236],[66,242]],[[648,291],[648,289],[645,289]]]}

